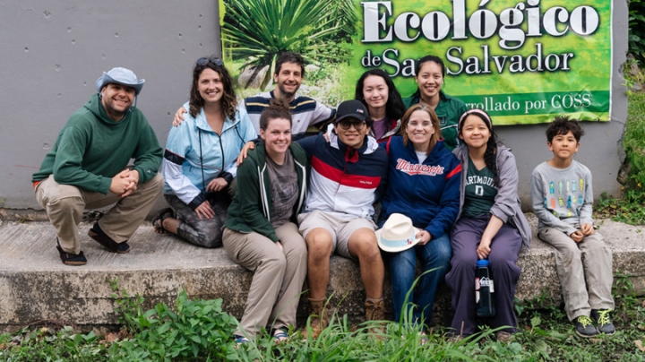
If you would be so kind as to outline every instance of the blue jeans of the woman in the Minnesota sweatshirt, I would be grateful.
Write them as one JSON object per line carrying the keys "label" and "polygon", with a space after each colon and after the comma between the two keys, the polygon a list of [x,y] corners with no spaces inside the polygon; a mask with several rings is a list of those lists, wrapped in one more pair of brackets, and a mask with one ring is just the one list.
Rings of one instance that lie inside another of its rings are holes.
{"label": "blue jeans of the woman in the Minnesota sweatshirt", "polygon": [[[448,271],[451,254],[452,249],[447,234],[430,240],[425,246],[414,246],[400,253],[388,253],[395,321],[400,321],[401,312],[409,315],[410,309],[414,308],[414,319],[409,322],[428,325],[432,317],[436,290]],[[410,293],[404,310],[406,294],[415,281],[417,258],[421,261],[421,272],[428,272],[420,277],[417,288]]]}

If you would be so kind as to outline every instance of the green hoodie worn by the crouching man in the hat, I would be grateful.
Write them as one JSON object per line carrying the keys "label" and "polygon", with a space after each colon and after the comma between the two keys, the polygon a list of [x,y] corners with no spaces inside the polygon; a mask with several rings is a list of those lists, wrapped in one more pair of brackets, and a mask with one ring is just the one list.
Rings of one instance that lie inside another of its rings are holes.
{"label": "green hoodie worn by the crouching man in the hat", "polygon": [[116,122],[107,116],[99,94],[95,94],[64,125],[31,180],[41,181],[54,174],[59,184],[107,194],[112,177],[123,171],[130,159],[134,159],[143,184],[157,174],[162,156],[157,135],[138,108],[131,108]]}

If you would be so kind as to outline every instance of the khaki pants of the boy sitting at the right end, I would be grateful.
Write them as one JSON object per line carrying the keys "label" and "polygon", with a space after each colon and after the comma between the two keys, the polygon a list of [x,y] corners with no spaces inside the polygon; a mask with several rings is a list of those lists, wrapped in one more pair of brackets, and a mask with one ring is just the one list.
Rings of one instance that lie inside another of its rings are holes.
{"label": "khaki pants of the boy sitting at the right end", "polygon": [[589,316],[591,309],[614,309],[612,251],[598,231],[580,243],[555,228],[540,230],[538,237],[555,247],[555,266],[570,321]]}

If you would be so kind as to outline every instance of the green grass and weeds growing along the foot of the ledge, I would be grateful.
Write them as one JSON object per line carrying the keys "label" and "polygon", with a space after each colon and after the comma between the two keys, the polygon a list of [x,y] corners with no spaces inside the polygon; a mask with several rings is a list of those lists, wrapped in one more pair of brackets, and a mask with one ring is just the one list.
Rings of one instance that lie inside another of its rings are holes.
{"label": "green grass and weeds growing along the foot of the ledge", "polygon": [[[116,285],[114,283],[113,285]],[[290,340],[275,344],[266,333],[236,349],[230,338],[235,321],[218,301],[190,300],[181,292],[175,308],[159,304],[141,309],[142,298],[119,291],[117,304],[125,329],[107,336],[25,328],[0,334],[2,361],[642,361],[637,342],[645,337],[645,302],[636,297],[629,275],[615,275],[616,302],[612,336],[584,339],[573,332],[563,309],[547,297],[518,303],[519,332],[504,344],[485,329],[452,342],[446,330],[433,330],[420,344],[417,327],[400,323],[363,323],[333,318],[318,339],[289,331]],[[231,321],[233,324],[231,324]],[[382,326],[383,332],[368,332]],[[305,327],[306,331],[306,327]],[[205,337],[204,337],[205,336]],[[211,338],[214,336],[213,338]]]}

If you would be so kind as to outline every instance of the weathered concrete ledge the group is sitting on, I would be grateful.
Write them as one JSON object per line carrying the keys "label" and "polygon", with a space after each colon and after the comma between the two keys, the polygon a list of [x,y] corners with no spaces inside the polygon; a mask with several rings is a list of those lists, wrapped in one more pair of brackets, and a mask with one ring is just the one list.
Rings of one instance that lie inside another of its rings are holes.
{"label": "weathered concrete ledge the group is sitting on", "polygon": [[[536,222],[530,215],[531,222]],[[203,249],[176,237],[155,234],[150,224],[130,240],[129,254],[112,254],[87,237],[90,224],[83,224],[82,250],[88,264],[70,267],[60,262],[54,229],[47,222],[0,221],[0,331],[13,331],[46,319],[64,320],[83,327],[115,325],[118,315],[107,279],[146,298],[147,306],[164,301],[172,304],[178,289],[194,298],[224,299],[228,313],[240,317],[253,274],[231,262],[222,248]],[[631,275],[634,287],[645,290],[645,227],[632,227],[605,220],[599,230],[614,251],[614,271]],[[522,274],[516,297],[528,300],[546,297],[560,301],[555,256],[537,237],[531,250],[522,250]],[[306,289],[306,286],[305,286]],[[386,278],[386,304],[390,310],[390,284]],[[365,293],[357,263],[331,258],[329,295],[331,305],[354,320],[363,315]],[[305,296],[298,312],[305,314]],[[450,293],[440,289],[435,322],[450,318]]]}

